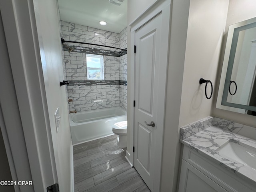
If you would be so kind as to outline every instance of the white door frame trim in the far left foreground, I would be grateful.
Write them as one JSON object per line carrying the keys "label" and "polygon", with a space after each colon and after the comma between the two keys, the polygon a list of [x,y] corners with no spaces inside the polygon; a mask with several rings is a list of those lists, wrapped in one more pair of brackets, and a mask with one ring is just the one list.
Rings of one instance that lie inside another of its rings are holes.
{"label": "white door frame trim in the far left foreground", "polygon": [[[20,186],[20,191],[45,191],[46,186],[58,182],[44,78],[39,50],[38,34],[33,0],[0,0],[0,8],[6,36],[6,44],[10,58],[13,86],[17,99],[15,108],[19,111],[20,124],[12,132],[13,127],[6,124],[11,153],[18,180],[33,180],[33,186]],[[8,98],[8,102],[12,102]],[[6,108],[2,108],[5,114]],[[4,121],[10,121],[10,117]],[[13,129],[14,130],[14,129]],[[3,135],[4,136],[4,135]],[[17,139],[24,140],[25,147],[17,146]],[[6,148],[8,150],[8,148]],[[22,172],[20,159],[26,158],[30,170]],[[10,159],[9,163],[10,162]],[[49,168],[46,172],[44,168]],[[19,177],[20,176],[20,177]]]}

